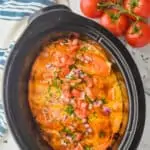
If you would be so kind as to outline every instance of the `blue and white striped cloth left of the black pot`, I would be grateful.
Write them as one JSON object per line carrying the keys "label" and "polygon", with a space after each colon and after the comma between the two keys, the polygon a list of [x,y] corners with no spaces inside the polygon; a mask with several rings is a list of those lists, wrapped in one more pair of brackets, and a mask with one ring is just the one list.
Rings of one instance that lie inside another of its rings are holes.
{"label": "blue and white striped cloth left of the black pot", "polygon": [[[51,5],[55,0],[0,0],[0,84],[7,57],[15,41],[35,11]],[[1,91],[1,89],[0,89]],[[7,133],[7,123],[0,92],[0,140]]]}

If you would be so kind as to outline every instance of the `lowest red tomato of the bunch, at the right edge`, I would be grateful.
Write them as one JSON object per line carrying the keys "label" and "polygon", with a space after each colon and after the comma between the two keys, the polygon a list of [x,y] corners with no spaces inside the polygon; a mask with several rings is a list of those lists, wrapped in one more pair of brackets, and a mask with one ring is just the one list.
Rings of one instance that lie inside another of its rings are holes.
{"label": "lowest red tomato of the bunch, at the right edge", "polygon": [[143,47],[150,42],[150,26],[143,22],[132,24],[125,36],[133,47]]}

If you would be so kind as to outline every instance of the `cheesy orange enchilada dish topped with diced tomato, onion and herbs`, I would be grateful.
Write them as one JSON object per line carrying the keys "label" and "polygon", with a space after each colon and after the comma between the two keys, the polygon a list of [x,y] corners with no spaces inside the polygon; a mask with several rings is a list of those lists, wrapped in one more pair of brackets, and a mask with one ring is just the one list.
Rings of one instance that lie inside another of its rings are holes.
{"label": "cheesy orange enchilada dish topped with diced tomato, onion and herbs", "polygon": [[97,43],[78,37],[49,43],[29,81],[30,108],[44,140],[54,150],[111,149],[124,117],[120,84]]}

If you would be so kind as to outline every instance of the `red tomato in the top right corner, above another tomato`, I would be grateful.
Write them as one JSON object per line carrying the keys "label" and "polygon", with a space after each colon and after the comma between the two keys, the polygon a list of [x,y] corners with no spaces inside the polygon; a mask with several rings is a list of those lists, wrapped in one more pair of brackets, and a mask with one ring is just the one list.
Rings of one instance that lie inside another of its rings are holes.
{"label": "red tomato in the top right corner, above another tomato", "polygon": [[150,0],[125,0],[124,7],[142,17],[150,17]]}

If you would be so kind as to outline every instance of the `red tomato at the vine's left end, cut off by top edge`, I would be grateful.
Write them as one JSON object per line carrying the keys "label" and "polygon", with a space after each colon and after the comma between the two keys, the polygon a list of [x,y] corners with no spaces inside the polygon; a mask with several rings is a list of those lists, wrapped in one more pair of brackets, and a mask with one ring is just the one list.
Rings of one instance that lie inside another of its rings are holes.
{"label": "red tomato at the vine's left end, cut off by top edge", "polygon": [[81,0],[80,9],[87,17],[99,17],[101,16],[102,11],[97,9],[98,2],[100,2],[100,0]]}

